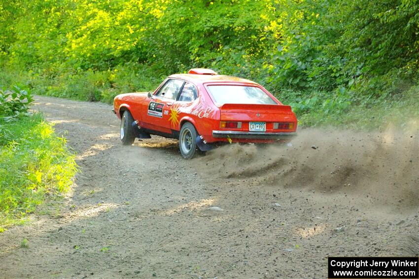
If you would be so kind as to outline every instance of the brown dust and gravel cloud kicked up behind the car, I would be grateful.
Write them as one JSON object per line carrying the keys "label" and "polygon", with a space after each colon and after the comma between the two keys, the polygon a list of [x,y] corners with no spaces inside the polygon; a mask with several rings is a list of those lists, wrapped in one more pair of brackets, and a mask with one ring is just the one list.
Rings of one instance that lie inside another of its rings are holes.
{"label": "brown dust and gravel cloud kicked up behind the car", "polygon": [[231,144],[195,164],[206,177],[345,193],[399,210],[418,209],[418,122],[381,132],[302,129],[291,145]]}

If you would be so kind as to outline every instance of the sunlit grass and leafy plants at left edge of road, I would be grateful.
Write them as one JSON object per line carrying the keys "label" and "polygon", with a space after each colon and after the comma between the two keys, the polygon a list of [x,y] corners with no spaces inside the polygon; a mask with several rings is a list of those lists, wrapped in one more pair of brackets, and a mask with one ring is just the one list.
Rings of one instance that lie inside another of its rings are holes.
{"label": "sunlit grass and leafy plants at left edge of road", "polygon": [[0,90],[0,232],[67,192],[76,171],[66,140],[41,114],[28,112],[32,101],[18,87]]}

